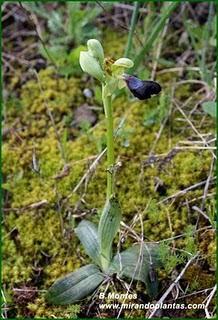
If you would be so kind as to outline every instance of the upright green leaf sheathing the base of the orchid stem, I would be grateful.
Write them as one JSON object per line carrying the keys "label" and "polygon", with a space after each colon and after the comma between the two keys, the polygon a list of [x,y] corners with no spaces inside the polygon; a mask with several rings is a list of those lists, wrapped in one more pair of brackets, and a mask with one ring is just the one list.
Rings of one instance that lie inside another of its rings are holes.
{"label": "upright green leaf sheathing the base of the orchid stem", "polygon": [[107,200],[98,226],[101,263],[107,270],[112,257],[112,243],[117,234],[121,220],[121,209],[118,200],[113,197]]}

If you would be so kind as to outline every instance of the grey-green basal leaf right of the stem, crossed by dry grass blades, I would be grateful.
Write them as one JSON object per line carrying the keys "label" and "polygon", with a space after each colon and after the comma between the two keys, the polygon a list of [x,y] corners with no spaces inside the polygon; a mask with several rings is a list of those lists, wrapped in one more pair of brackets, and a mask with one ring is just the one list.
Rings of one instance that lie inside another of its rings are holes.
{"label": "grey-green basal leaf right of the stem, crossed by dry grass blades", "polygon": [[158,246],[154,243],[144,243],[116,254],[109,273],[144,282],[148,294],[155,297],[158,289],[155,268],[160,265]]}

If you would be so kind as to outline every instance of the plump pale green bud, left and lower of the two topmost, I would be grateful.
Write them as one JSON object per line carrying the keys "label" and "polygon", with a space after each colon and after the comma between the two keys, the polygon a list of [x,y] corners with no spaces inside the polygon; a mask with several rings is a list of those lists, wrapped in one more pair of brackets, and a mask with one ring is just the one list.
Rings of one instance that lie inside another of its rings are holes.
{"label": "plump pale green bud, left and lower of the two topmost", "polygon": [[80,52],[79,63],[84,72],[87,72],[90,76],[101,82],[104,80],[104,72],[101,69],[99,62],[90,55],[88,51]]}

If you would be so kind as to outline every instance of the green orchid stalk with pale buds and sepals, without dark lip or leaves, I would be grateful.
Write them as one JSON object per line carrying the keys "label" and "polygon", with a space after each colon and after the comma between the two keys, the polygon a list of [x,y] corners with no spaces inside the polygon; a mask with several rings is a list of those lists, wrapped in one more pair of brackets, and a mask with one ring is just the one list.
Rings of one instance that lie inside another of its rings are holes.
{"label": "green orchid stalk with pale buds and sepals, without dark lip or leaves", "polygon": [[84,72],[99,80],[102,84],[102,101],[107,125],[107,199],[115,195],[114,181],[114,135],[112,94],[116,89],[125,86],[121,75],[125,69],[133,67],[132,60],[120,58],[104,68],[104,50],[96,39],[87,42],[88,51],[80,53],[80,66]]}

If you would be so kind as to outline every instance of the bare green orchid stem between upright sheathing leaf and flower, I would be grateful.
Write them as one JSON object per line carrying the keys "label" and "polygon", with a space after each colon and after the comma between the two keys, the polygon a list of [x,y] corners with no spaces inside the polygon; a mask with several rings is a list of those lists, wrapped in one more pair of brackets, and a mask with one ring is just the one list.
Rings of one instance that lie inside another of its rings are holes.
{"label": "bare green orchid stem between upright sheathing leaf and flower", "polygon": [[102,87],[102,100],[107,123],[107,199],[114,195],[114,130],[113,109],[111,95],[105,95],[105,87]]}

